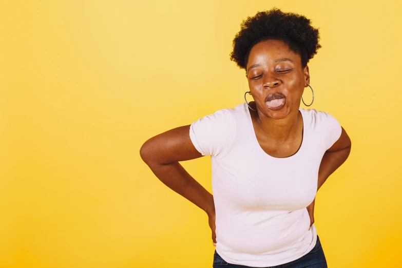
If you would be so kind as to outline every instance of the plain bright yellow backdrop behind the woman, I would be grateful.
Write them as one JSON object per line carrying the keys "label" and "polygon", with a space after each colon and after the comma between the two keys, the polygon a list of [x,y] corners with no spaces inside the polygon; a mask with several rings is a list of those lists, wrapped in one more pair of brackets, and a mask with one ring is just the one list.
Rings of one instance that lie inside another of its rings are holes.
{"label": "plain bright yellow backdrop behind the woman", "polygon": [[[400,267],[399,3],[1,1],[0,267],[212,267],[206,214],[139,150],[244,101],[232,40],[274,6],[319,28],[311,108],[353,143],[316,198],[329,267]],[[182,162],[208,190],[209,160]]]}

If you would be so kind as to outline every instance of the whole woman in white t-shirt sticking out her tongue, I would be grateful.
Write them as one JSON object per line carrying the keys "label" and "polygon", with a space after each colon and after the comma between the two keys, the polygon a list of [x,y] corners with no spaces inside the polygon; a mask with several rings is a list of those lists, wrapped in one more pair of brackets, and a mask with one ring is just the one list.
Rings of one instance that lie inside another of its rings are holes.
{"label": "whole woman in white t-shirt sticking out her tongue", "polygon": [[[273,8],[248,17],[231,60],[245,70],[254,102],[161,133],[140,150],[164,184],[208,215],[213,267],[327,267],[314,201],[351,141],[329,113],[299,108],[304,88],[313,92],[307,63],[318,40],[298,14]],[[179,164],[207,155],[214,195]]]}

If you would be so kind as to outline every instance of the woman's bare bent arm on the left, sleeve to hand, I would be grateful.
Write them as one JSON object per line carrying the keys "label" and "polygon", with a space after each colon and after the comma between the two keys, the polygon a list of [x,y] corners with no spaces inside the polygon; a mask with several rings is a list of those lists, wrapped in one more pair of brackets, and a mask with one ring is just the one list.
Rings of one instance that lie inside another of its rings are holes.
{"label": "woman's bare bent arm on the left, sleeve to hand", "polygon": [[190,125],[170,129],[147,140],[140,149],[142,160],[167,187],[194,203],[208,215],[215,238],[215,205],[213,195],[180,165],[202,157],[189,137]]}

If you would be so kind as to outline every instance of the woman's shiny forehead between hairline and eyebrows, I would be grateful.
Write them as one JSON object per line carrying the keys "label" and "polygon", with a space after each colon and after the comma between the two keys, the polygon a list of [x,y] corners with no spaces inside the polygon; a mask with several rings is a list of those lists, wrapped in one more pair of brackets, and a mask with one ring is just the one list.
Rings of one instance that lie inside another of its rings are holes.
{"label": "woman's shiny forehead between hairline and eyebrows", "polygon": [[264,40],[252,47],[248,55],[248,65],[255,64],[255,61],[274,61],[278,58],[289,58],[294,62],[300,61],[299,54],[290,50],[288,44],[280,40]]}

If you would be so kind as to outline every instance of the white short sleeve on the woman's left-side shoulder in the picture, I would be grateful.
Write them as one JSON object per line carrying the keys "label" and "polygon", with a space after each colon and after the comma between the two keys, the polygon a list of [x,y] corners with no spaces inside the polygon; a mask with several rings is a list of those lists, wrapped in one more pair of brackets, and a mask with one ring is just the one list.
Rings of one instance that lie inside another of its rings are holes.
{"label": "white short sleeve on the woman's left-side shoulder in the picture", "polygon": [[190,125],[190,139],[203,156],[222,157],[232,145],[236,125],[229,109],[218,110]]}

